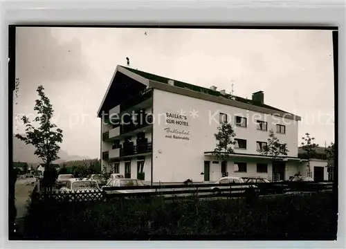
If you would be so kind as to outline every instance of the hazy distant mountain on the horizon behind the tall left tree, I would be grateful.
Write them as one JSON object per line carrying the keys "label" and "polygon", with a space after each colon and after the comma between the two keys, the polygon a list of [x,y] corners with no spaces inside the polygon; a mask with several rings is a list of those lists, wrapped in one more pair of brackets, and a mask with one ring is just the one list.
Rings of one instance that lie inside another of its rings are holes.
{"label": "hazy distant mountain on the horizon behind the tall left tree", "polygon": [[[15,136],[13,136],[13,161],[14,162],[26,162],[31,164],[43,163],[43,161],[38,158],[35,154],[35,147],[33,145],[26,145],[25,142],[19,140]],[[70,156],[66,151],[60,149],[57,156],[60,159],[55,160],[53,163],[64,163],[70,160],[83,160],[83,159],[91,159],[87,156]]]}

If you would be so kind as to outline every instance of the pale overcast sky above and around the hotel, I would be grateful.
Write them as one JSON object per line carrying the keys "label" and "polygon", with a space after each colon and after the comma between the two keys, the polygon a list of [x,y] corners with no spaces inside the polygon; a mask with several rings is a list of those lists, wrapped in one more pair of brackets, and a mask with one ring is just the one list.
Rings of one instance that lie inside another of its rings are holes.
{"label": "pale overcast sky above and around the hotel", "polygon": [[17,28],[14,112],[35,113],[42,84],[64,131],[62,149],[99,158],[96,112],[126,57],[133,68],[190,84],[230,92],[233,81],[244,98],[262,90],[266,104],[302,117],[299,141],[309,132],[322,146],[334,142],[329,30]]}

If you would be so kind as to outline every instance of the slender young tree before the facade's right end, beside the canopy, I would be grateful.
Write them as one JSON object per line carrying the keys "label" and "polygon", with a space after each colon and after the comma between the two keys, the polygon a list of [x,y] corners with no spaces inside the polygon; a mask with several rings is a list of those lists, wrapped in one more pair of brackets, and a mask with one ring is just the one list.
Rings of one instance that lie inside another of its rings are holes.
{"label": "slender young tree before the facade's right end, beside the canopy", "polygon": [[272,165],[275,162],[282,160],[282,156],[287,156],[289,150],[286,147],[286,144],[280,143],[280,140],[275,136],[274,130],[269,131],[269,137],[267,139],[266,145],[262,147],[260,153],[263,156],[270,156]]}

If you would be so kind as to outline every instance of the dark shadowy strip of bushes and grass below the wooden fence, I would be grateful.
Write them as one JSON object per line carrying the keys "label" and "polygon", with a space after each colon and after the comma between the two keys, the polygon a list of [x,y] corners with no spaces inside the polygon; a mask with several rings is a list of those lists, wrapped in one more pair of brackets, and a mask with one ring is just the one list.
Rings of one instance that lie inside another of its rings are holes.
{"label": "dark shadowy strip of bushes and grass below the wooden fence", "polygon": [[[335,239],[330,192],[260,199],[32,203],[24,237],[39,239]],[[168,237],[173,236],[173,237]]]}

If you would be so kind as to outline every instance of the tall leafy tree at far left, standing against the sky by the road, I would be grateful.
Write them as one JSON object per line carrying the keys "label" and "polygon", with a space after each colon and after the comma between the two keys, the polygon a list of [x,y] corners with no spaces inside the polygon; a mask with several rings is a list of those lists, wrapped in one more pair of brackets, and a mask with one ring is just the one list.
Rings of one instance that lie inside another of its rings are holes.
{"label": "tall leafy tree at far left, standing against the sky by the road", "polygon": [[[33,145],[35,147],[35,155],[41,158],[46,165],[46,183],[51,188],[53,185],[53,174],[55,169],[51,169],[51,163],[54,160],[59,159],[57,153],[60,150],[59,143],[62,142],[62,129],[57,128],[56,124],[51,122],[53,118],[53,106],[49,98],[44,93],[44,87],[38,86],[37,93],[39,99],[36,100],[34,111],[37,111],[37,116],[33,120],[29,120],[28,117],[23,116],[23,120],[26,126],[26,136],[16,134],[15,137],[22,140],[26,145]],[[33,123],[38,123],[38,127],[34,127]]]}

